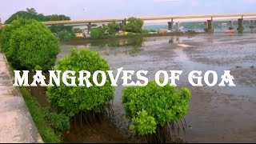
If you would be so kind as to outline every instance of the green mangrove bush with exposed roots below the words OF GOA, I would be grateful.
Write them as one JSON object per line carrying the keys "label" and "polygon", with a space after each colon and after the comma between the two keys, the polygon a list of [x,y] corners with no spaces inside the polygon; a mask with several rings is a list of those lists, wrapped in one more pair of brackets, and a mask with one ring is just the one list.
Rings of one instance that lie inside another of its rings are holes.
{"label": "green mangrove bush with exposed roots below the words OF GOA", "polygon": [[[187,88],[182,88],[178,92],[174,86],[158,86],[156,82],[150,81],[144,87],[126,87],[123,90],[122,103],[126,118],[135,123],[132,125],[133,130],[142,136],[155,132],[153,139],[158,139],[157,142],[165,142],[166,138],[171,137],[170,127],[175,127],[172,133],[175,130],[178,132],[177,122],[185,116],[189,107],[189,98],[190,90]],[[154,122],[157,123],[156,131],[153,129]],[[162,130],[167,134],[163,134]],[[162,136],[160,137],[159,134]]]}

